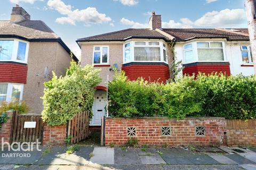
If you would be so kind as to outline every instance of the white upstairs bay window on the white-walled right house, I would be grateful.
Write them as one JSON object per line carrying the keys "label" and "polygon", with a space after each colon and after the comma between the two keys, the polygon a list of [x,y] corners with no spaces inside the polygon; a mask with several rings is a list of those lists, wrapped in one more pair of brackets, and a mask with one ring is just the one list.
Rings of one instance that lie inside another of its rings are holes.
{"label": "white upstairs bay window on the white-walled right house", "polygon": [[223,42],[197,41],[183,46],[185,63],[188,62],[219,62],[225,61],[225,46]]}

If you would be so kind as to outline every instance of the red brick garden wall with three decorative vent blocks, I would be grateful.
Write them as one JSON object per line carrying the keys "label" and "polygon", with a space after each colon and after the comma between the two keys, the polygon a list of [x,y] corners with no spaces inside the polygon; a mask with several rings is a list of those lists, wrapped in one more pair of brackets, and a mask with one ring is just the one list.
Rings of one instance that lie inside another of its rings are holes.
{"label": "red brick garden wall with three decorative vent blocks", "polygon": [[[170,126],[171,134],[162,135],[162,126]],[[196,126],[205,127],[205,135],[195,134]],[[226,121],[221,117],[186,118],[177,120],[166,117],[106,118],[105,145],[113,142],[123,145],[131,137],[127,127],[135,127],[139,144],[147,145],[221,145],[225,139]]]}

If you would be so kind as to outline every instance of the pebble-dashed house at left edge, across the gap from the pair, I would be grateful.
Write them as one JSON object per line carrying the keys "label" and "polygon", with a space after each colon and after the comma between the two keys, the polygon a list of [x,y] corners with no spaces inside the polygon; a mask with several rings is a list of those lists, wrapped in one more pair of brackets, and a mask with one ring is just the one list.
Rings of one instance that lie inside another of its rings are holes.
{"label": "pebble-dashed house at left edge, across the gap from the pair", "polygon": [[43,21],[30,20],[19,5],[10,21],[0,21],[0,101],[25,100],[31,113],[41,114],[43,83],[52,71],[65,73],[70,61],[61,38]]}

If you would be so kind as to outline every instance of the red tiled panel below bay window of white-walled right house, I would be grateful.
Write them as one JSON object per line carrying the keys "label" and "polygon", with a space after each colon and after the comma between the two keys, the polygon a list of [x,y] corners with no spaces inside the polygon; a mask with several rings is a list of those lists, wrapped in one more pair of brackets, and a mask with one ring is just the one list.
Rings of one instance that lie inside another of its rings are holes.
{"label": "red tiled panel below bay window of white-walled right house", "polygon": [[209,65],[191,65],[191,66],[186,66],[183,69],[183,75],[189,74],[192,75],[195,73],[196,75],[198,72],[205,73],[205,74],[210,74],[212,72],[222,72],[226,73],[226,75],[230,75],[230,67],[229,64],[209,64]]}

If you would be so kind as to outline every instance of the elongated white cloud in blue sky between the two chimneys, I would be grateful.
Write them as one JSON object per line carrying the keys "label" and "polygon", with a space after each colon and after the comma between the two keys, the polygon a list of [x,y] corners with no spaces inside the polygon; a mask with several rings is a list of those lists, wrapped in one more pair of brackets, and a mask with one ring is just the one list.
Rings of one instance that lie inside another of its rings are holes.
{"label": "elongated white cloud in blue sky between the two chimneys", "polygon": [[111,21],[110,17],[106,16],[106,14],[99,13],[95,7],[87,7],[84,10],[72,10],[73,6],[66,5],[61,0],[49,0],[47,5],[60,14],[67,15],[56,19],[56,22],[60,24],[67,23],[75,25],[76,22],[85,22],[85,25],[90,25],[92,23]]}

